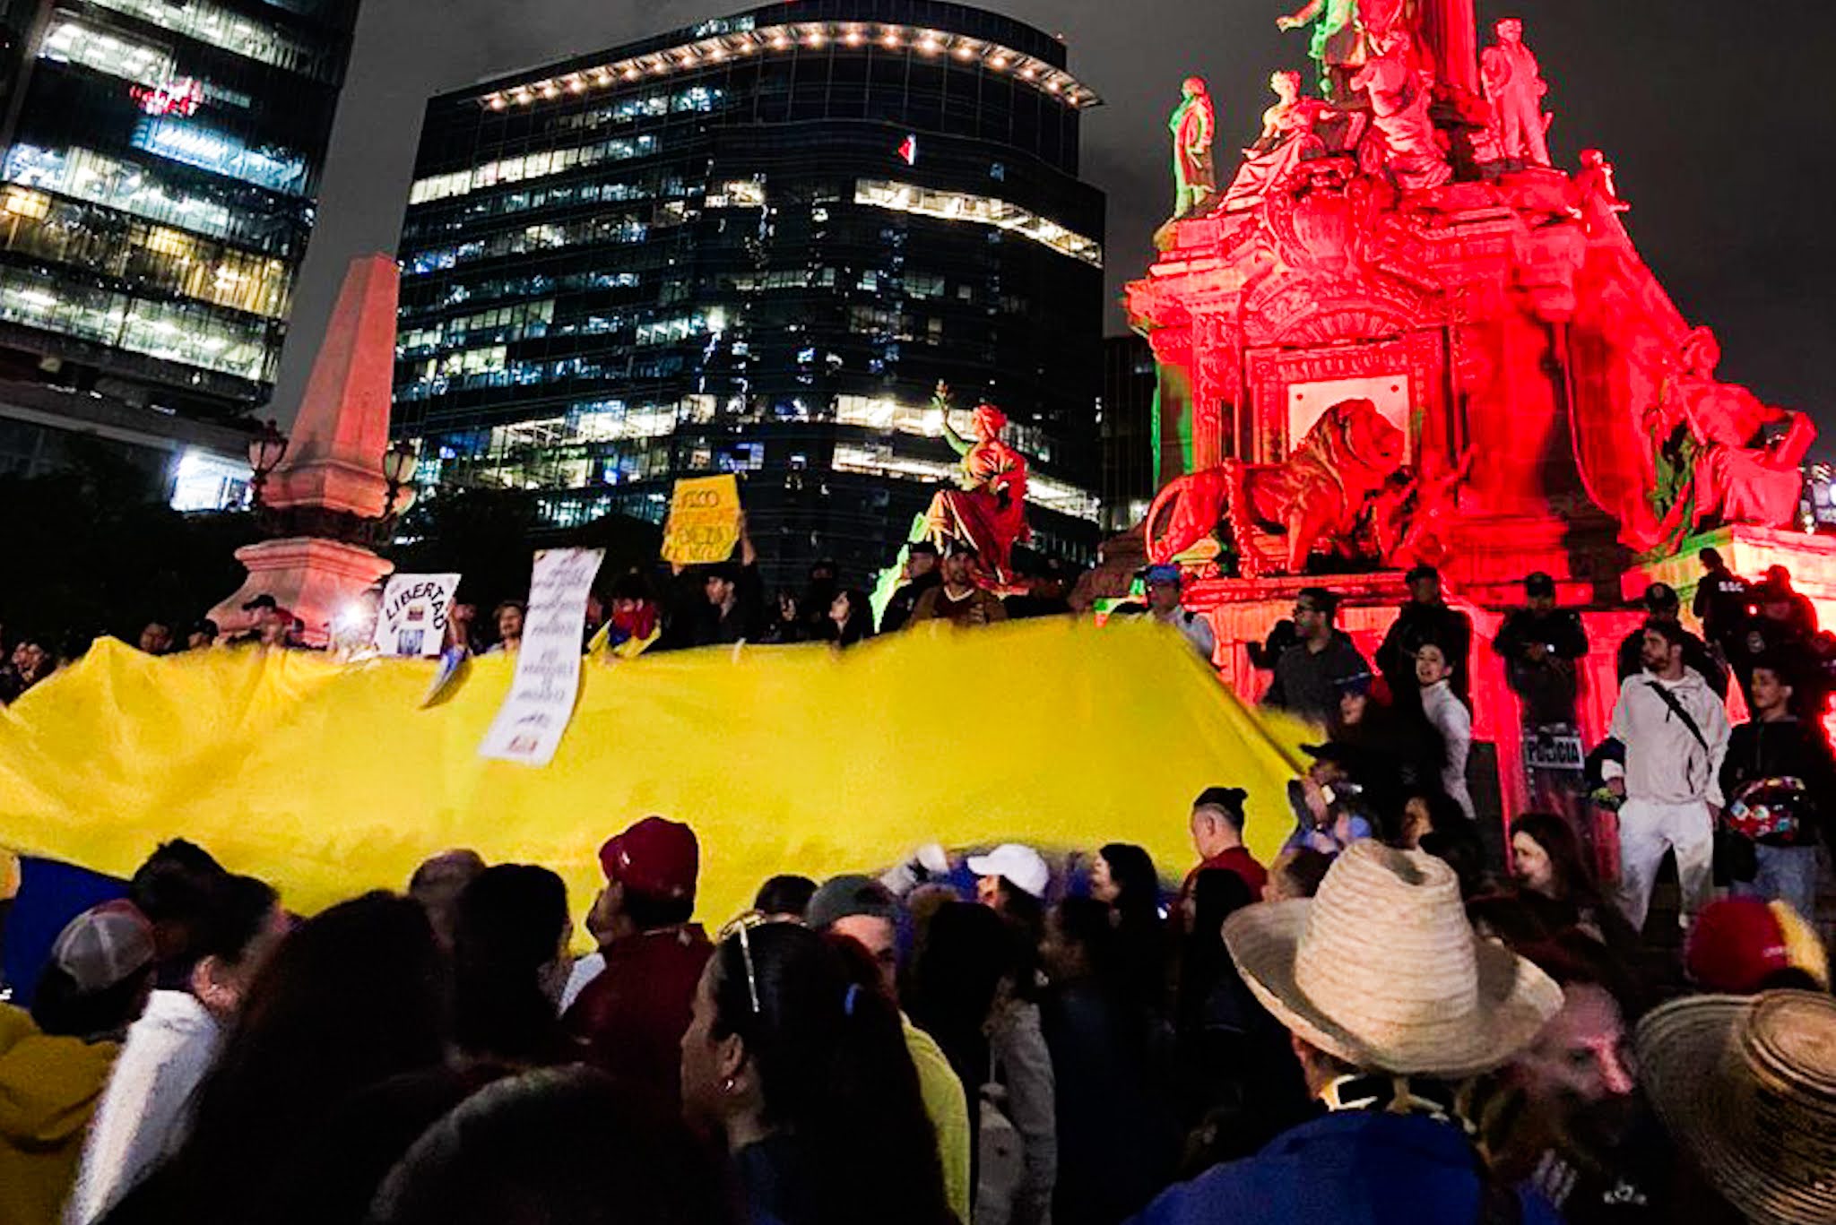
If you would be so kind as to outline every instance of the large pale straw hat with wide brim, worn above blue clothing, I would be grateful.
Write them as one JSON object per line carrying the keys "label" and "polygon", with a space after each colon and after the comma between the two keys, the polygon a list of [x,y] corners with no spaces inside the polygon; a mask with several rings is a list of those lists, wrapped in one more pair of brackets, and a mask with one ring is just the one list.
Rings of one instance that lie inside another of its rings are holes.
{"label": "large pale straw hat with wide brim, worn above blue clothing", "polygon": [[1562,1006],[1550,975],[1472,933],[1447,863],[1370,839],[1311,900],[1232,915],[1225,944],[1278,1021],[1370,1071],[1476,1076]]}

